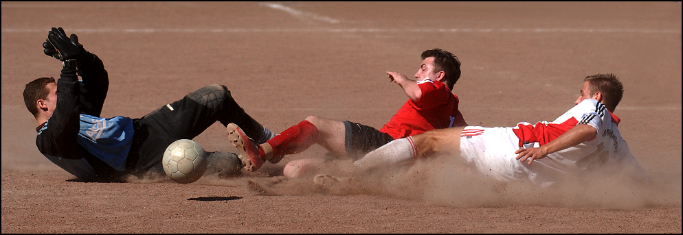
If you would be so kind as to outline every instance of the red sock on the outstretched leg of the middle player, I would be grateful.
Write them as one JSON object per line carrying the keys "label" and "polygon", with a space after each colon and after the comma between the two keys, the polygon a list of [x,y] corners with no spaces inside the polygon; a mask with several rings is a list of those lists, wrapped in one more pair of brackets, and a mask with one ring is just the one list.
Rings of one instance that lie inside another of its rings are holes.
{"label": "red sock on the outstretched leg of the middle player", "polygon": [[309,121],[301,121],[268,140],[273,147],[273,158],[300,153],[315,144],[317,127]]}

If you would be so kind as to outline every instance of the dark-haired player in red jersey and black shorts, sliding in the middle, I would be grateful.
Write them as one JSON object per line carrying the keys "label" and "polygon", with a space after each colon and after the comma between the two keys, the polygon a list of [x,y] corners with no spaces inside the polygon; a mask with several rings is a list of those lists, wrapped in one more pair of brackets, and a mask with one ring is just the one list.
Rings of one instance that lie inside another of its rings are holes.
{"label": "dark-haired player in red jersey and black shorts, sliding in the middle", "polygon": [[[410,99],[379,130],[350,121],[309,116],[261,145],[252,143],[240,127],[228,125],[229,140],[240,150],[245,169],[257,171],[265,161],[277,163],[285,155],[300,153],[315,143],[333,156],[356,160],[397,138],[467,125],[458,110],[458,97],[451,92],[460,78],[458,58],[448,51],[432,49],[424,51],[422,59],[415,80],[387,72],[390,81],[399,84]],[[298,169],[302,164],[309,163],[310,160],[289,162],[284,174],[296,177],[301,174]]]}

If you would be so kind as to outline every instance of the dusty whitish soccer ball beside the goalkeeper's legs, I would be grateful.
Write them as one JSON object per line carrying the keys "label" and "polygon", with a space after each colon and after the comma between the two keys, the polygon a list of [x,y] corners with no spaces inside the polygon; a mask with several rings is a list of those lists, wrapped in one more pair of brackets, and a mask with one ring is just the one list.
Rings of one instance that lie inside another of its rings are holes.
{"label": "dusty whitish soccer ball beside the goalkeeper's legs", "polygon": [[173,181],[190,184],[206,171],[206,152],[194,140],[180,139],[168,145],[161,158],[164,172]]}

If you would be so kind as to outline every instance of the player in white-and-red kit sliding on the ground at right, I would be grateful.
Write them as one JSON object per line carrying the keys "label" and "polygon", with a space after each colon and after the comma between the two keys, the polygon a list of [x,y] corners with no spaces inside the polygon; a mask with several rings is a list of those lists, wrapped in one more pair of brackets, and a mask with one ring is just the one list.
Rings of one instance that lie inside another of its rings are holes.
{"label": "player in white-and-red kit sliding on the ground at right", "polygon": [[[622,96],[623,84],[615,75],[587,76],[576,106],[550,123],[436,129],[394,140],[354,165],[360,171],[370,171],[436,153],[448,154],[496,180],[529,180],[542,187],[607,165],[633,167],[629,170],[640,175],[642,169],[621,137],[620,120],[613,113]],[[326,186],[339,179],[317,175],[314,181]]]}

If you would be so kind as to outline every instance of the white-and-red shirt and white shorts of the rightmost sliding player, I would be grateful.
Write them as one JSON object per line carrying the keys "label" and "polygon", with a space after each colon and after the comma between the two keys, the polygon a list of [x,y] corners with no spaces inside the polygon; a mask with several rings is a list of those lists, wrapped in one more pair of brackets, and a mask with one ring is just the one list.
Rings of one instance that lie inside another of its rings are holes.
{"label": "white-and-red shirt and white shorts of the rightmost sliding player", "polygon": [[[517,127],[466,127],[460,138],[460,149],[462,156],[477,164],[482,173],[499,180],[528,177],[535,184],[550,186],[560,182],[563,177],[575,176],[596,167],[621,163],[637,166],[619,133],[618,123],[618,117],[607,111],[603,103],[585,99],[550,123],[541,121],[536,125],[518,123]],[[515,159],[516,149],[545,145],[572,127],[583,124],[596,129],[596,138],[550,153],[530,165]]]}

